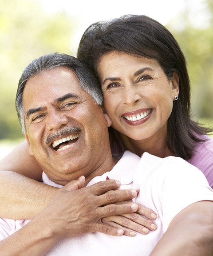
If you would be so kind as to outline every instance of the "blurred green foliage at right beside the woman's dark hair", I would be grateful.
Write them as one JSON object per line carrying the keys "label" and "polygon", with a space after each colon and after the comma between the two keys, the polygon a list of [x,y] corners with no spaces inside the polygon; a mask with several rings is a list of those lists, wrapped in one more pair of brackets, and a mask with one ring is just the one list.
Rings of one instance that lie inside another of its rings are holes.
{"label": "blurred green foliage at right beside the woman's dark hair", "polygon": [[190,8],[186,0],[186,8],[178,16],[178,26],[175,26],[176,21],[173,20],[170,27],[176,31],[173,34],[187,60],[193,114],[196,119],[213,120],[213,1],[203,1],[203,8],[199,10],[205,23],[192,23]]}

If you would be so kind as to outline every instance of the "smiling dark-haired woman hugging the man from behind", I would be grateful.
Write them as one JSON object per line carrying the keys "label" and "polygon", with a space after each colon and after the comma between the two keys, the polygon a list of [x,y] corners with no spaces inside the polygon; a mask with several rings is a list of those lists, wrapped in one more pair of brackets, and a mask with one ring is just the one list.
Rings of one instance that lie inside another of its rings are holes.
{"label": "smiling dark-haired woman hugging the man from behind", "polygon": [[[213,186],[213,140],[205,135],[211,130],[190,119],[185,59],[165,27],[146,16],[125,16],[93,24],[82,37],[78,58],[95,70],[101,82],[104,107],[112,127],[118,131],[110,131],[114,153],[121,155],[129,149],[139,156],[145,151],[160,157],[180,156],[200,168]],[[2,160],[0,167],[35,180],[41,177],[41,170],[28,155],[26,143]],[[18,201],[16,192],[20,192],[20,204],[26,205],[26,215],[22,215],[22,208],[20,218],[32,217],[29,208],[39,212],[55,194],[54,188],[33,180],[28,181],[29,189],[25,192],[23,176],[2,173],[2,205],[8,203],[8,198]],[[11,187],[5,193],[4,184],[8,183],[12,184],[14,194]],[[49,198],[41,199],[38,190]],[[24,193],[26,198],[31,194],[31,202],[24,200]],[[14,218],[9,214],[5,210],[4,216]]]}

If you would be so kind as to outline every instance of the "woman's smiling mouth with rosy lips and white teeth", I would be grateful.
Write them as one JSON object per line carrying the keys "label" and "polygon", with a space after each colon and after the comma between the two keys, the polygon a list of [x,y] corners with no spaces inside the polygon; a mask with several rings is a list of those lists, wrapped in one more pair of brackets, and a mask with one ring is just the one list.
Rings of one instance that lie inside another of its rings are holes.
{"label": "woman's smiling mouth with rosy lips and white teeth", "polygon": [[121,117],[127,124],[139,125],[150,118],[153,108],[143,108],[134,112],[128,112],[123,114]]}

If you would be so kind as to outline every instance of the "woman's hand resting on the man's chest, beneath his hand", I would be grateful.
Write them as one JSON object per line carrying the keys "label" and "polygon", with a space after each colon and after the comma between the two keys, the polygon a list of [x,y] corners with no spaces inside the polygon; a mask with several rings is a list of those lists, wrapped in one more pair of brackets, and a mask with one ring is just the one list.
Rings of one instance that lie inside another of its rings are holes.
{"label": "woman's hand resting on the man's chest, beneath his hand", "polygon": [[[115,204],[130,203],[132,203],[131,200]],[[157,214],[154,211],[138,204],[137,212],[104,217],[102,222],[114,228],[121,228],[126,236],[135,236],[136,232],[146,235],[149,230],[156,230],[157,226],[153,221],[156,218]]]}

